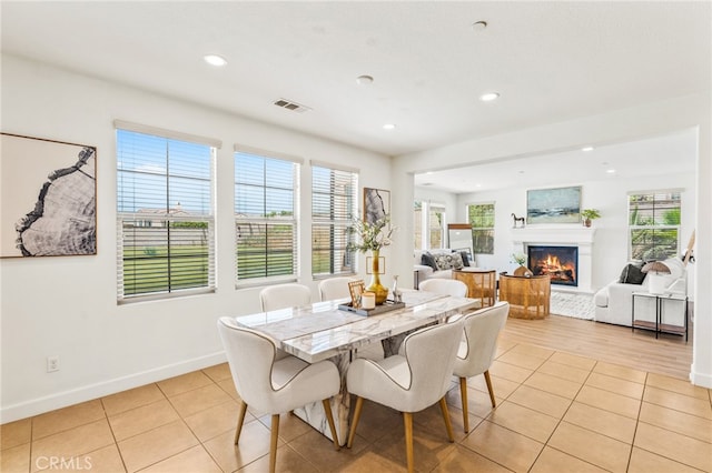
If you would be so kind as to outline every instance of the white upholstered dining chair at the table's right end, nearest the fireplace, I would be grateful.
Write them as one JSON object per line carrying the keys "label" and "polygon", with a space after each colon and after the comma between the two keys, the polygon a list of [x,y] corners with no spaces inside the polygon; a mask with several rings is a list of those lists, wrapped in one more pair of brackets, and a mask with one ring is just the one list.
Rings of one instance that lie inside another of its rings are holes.
{"label": "white upholstered dining chair at the table's right end, nearest the fireplace", "polygon": [[464,322],[463,338],[457,350],[453,374],[459,379],[459,393],[463,403],[463,424],[465,433],[469,432],[467,417],[467,379],[484,374],[490,401],[496,405],[490,366],[497,350],[497,338],[504,329],[510,314],[510,303],[500,301],[490,308],[479,309],[462,318]]}

